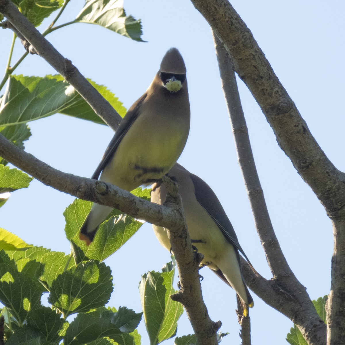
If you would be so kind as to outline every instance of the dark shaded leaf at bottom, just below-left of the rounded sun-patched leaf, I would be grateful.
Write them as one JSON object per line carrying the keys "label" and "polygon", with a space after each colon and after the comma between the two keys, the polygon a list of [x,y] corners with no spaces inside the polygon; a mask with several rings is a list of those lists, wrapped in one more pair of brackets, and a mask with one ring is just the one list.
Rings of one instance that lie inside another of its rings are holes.
{"label": "dark shaded leaf at bottom, just below-left of the rounded sun-patched leaf", "polygon": [[59,333],[65,323],[68,324],[59,314],[48,307],[40,306],[29,313],[29,324],[38,329],[41,339],[43,338],[47,342],[58,343],[62,339]]}

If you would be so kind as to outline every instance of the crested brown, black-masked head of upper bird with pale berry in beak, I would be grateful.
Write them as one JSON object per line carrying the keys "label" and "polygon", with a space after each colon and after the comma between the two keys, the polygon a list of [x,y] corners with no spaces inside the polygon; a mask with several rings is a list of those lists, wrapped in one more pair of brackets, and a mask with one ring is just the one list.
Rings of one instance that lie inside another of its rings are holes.
{"label": "crested brown, black-masked head of upper bird with pale berry in beak", "polygon": [[176,48],[170,48],[160,64],[159,77],[170,92],[178,92],[186,80],[186,66]]}

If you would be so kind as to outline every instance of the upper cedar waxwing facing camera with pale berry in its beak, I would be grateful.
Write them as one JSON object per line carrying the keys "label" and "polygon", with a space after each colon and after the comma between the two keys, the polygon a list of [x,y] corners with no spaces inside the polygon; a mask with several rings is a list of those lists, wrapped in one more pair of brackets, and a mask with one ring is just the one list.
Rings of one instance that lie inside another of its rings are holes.
{"label": "upper cedar waxwing facing camera with pale berry in its beak", "polygon": [[[183,151],[190,124],[186,66],[170,48],[144,95],[127,111],[92,175],[131,191],[165,175]],[[89,245],[112,208],[94,203],[79,237]]]}

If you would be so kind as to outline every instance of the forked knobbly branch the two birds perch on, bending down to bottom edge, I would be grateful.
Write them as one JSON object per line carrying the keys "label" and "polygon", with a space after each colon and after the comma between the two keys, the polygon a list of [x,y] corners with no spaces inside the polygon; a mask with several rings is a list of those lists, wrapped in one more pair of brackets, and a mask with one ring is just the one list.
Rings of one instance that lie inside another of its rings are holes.
{"label": "forked knobbly branch the two birds perch on, bending down to bottom edge", "polygon": [[172,298],[181,302],[185,307],[200,345],[217,344],[216,332],[221,323],[213,322],[208,316],[199,281],[200,254],[193,253],[182,201],[177,193],[177,186],[169,185],[172,183],[169,178],[164,176],[167,190],[172,196],[168,195],[168,206],[161,206],[140,199],[114,185],[54,169],[14,146],[1,134],[0,156],[47,186],[83,200],[117,208],[134,218],[169,229],[169,239],[181,285],[180,292]]}

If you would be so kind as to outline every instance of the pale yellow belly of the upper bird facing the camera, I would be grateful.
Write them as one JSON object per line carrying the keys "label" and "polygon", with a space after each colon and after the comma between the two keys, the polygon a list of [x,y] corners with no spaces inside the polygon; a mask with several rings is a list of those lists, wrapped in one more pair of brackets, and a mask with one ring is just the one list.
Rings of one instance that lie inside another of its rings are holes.
{"label": "pale yellow belly of the upper bird facing the camera", "polygon": [[100,179],[130,191],[165,175],[180,156],[188,131],[183,124],[161,124],[164,131],[157,126],[145,128],[145,124],[135,121]]}

